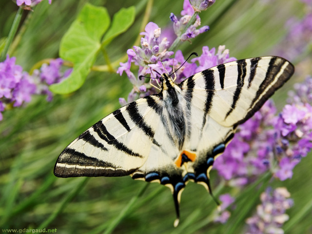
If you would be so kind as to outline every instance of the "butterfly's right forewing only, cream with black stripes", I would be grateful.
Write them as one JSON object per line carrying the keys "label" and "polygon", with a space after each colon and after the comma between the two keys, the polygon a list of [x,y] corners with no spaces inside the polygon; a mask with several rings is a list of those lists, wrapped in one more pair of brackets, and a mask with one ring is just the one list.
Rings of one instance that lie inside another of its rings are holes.
{"label": "butterfly's right forewing only, cream with black stripes", "polygon": [[[221,64],[192,78],[193,103],[208,107],[207,115],[222,126],[237,126],[252,117],[293,71],[290,62],[271,56]],[[187,90],[187,83],[180,84],[183,90]]]}

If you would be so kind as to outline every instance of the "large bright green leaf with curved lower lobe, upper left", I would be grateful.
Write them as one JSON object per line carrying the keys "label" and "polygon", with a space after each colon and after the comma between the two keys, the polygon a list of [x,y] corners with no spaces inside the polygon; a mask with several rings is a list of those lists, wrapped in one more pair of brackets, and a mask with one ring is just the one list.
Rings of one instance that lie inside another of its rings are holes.
{"label": "large bright green leaf with curved lower lobe, upper left", "polygon": [[84,83],[101,47],[100,39],[110,24],[106,8],[86,4],[61,40],[59,56],[74,63],[73,72],[50,90],[69,94]]}

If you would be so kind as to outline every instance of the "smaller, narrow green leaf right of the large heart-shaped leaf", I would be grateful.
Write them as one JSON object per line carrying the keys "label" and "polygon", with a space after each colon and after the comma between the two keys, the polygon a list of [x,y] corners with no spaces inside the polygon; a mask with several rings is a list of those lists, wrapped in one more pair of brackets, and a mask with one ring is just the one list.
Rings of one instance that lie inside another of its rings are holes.
{"label": "smaller, narrow green leaf right of the large heart-shaped leaf", "polygon": [[136,8],[131,6],[129,8],[121,8],[113,17],[112,26],[105,34],[102,45],[109,44],[112,39],[119,34],[125,32],[134,22],[136,16]]}

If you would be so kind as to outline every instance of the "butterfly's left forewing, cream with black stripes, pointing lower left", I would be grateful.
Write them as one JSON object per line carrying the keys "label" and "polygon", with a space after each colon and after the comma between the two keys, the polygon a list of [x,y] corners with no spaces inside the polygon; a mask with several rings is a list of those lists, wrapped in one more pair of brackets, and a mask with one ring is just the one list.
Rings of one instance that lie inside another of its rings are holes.
{"label": "butterfly's left forewing, cream with black stripes, pointing lower left", "polygon": [[157,140],[161,140],[155,138],[159,135],[155,131],[159,123],[156,113],[159,97],[149,98],[153,103],[140,98],[104,117],[76,138],[60,154],[54,174],[126,176],[136,171],[155,153],[160,144]]}

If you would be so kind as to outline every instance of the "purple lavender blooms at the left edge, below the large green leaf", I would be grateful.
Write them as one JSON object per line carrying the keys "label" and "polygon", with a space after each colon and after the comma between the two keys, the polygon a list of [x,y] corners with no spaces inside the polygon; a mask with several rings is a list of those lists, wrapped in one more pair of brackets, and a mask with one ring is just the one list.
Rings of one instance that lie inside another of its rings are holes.
{"label": "purple lavender blooms at the left edge, below the large green leaf", "polygon": [[23,71],[20,65],[15,64],[16,58],[9,56],[0,62],[0,120],[5,109],[11,105],[21,106],[23,102],[29,102],[34,94],[48,95],[52,99],[52,93],[48,85],[59,82],[69,76],[71,69],[64,74],[59,69],[63,61],[51,60],[50,65],[44,64],[41,70],[35,70],[32,75]]}

